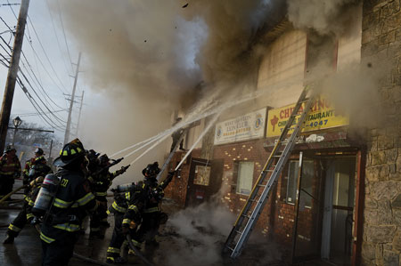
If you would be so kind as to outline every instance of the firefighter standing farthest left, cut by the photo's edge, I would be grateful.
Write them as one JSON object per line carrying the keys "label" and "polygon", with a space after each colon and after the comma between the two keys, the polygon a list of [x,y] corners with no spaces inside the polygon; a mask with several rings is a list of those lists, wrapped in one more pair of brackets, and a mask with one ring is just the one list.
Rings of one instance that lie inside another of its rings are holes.
{"label": "firefighter standing farthest left, cut by the photo's edge", "polygon": [[20,160],[15,155],[16,151],[12,145],[8,145],[0,157],[0,198],[10,193],[14,179],[20,178]]}

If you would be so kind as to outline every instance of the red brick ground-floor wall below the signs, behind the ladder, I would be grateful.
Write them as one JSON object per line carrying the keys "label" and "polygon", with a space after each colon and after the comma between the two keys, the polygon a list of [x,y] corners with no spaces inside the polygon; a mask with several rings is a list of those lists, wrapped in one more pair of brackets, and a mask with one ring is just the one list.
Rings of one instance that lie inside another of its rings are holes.
{"label": "red brick ground-floor wall below the signs, behind the ladder", "polygon": [[[234,163],[236,161],[254,162],[253,184],[255,184],[269,156],[269,153],[263,148],[264,141],[244,141],[214,147],[214,158],[224,159],[225,166],[222,183],[222,186],[224,186],[222,190],[225,191],[225,194],[222,195],[221,200],[234,214],[241,212],[242,207],[248,199],[248,196],[236,193],[237,173],[234,169]],[[285,172],[284,174],[286,174]],[[286,189],[286,183],[283,186]],[[314,185],[314,191],[315,189],[317,188]],[[282,178],[279,178],[276,188],[273,190],[262,214],[259,216],[256,231],[266,237],[274,237],[277,243],[290,247],[292,243],[295,207],[281,200],[280,191],[282,191]],[[301,214],[302,217],[299,219],[301,226],[303,225],[303,234],[307,238],[312,238],[310,229],[315,226],[315,222],[310,222],[314,215],[312,210],[314,209],[304,210]]]}

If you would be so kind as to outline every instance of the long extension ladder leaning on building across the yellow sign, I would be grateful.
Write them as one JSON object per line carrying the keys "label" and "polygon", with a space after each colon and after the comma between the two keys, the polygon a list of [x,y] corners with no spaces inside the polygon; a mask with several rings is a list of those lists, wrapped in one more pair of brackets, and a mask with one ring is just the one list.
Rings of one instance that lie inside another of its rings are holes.
{"label": "long extension ladder leaning on building across the yellow sign", "polygon": [[[312,105],[315,101],[315,94],[313,92],[310,93],[311,95],[309,95],[309,98],[307,99],[307,94],[309,91],[312,90],[309,90],[308,87],[305,87],[300,94],[299,100],[291,113],[291,117],[287,121],[285,127],[282,129],[280,138],[275,143],[274,149],[268,157],[266,165],[259,174],[258,180],[250,192],[250,197],[248,198],[245,206],[243,206],[241,213],[234,223],[233,230],[231,230],[230,235],[225,240],[223,252],[231,252],[230,256],[232,258],[236,258],[241,254],[243,246],[245,246],[248,238],[250,238],[250,233],[253,227],[256,225],[256,222],[258,222],[258,217],[261,214],[263,207],[266,205],[269,193],[274,188],[278,177],[282,173],[284,165],[287,163],[287,160],[291,155],[291,151],[295,146],[295,141],[299,132],[302,130],[307,113],[312,108]],[[304,102],[306,102],[305,108],[301,109]],[[295,127],[291,127],[299,113],[300,117],[297,125]],[[293,132],[291,133],[290,139],[288,141],[284,141],[291,129],[293,129]],[[268,179],[267,182],[265,182],[266,178]],[[262,188],[263,191],[258,193],[259,189]]]}

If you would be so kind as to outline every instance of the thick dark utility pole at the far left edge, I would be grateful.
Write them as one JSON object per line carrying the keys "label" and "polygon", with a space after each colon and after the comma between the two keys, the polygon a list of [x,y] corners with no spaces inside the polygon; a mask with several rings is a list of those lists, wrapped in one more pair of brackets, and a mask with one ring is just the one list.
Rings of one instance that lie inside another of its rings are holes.
{"label": "thick dark utility pole at the far left edge", "polygon": [[4,89],[4,97],[0,114],[0,151],[4,150],[5,138],[7,137],[8,122],[12,109],[12,98],[14,97],[15,82],[20,66],[20,52],[24,39],[25,24],[27,24],[29,0],[22,0],[20,14],[18,15],[17,31],[15,32],[14,44],[12,46],[12,58],[8,69],[7,81]]}

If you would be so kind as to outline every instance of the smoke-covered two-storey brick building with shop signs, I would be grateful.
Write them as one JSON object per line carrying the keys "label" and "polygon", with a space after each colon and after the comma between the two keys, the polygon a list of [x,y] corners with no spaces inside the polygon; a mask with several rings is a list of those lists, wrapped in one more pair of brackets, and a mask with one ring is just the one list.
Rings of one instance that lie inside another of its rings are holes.
{"label": "smoke-covered two-storey brick building with shop signs", "polygon": [[[389,71],[383,71],[375,87],[380,95],[376,104],[386,107],[386,123],[355,126],[352,116],[321,94],[256,231],[288,250],[292,262],[321,258],[338,265],[398,265],[400,1],[362,2],[352,7],[345,32],[319,37],[318,43],[313,33],[293,28],[288,20],[267,32],[254,90],[270,88],[269,92],[241,111],[231,109],[220,117],[216,128],[187,158],[167,196],[184,207],[200,204],[218,192],[218,199],[233,214],[240,213],[292,105],[304,85],[321,71],[322,61],[328,73],[352,64],[386,65]],[[204,121],[192,128],[187,147],[203,128]],[[172,166],[182,156],[178,152]]]}

